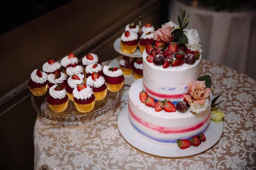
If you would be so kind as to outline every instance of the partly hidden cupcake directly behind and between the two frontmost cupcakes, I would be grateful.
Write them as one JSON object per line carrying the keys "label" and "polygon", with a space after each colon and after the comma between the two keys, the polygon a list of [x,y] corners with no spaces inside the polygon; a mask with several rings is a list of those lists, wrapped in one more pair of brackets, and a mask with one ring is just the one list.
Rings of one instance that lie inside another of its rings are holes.
{"label": "partly hidden cupcake directly behind and between the two frontmost cupcakes", "polygon": [[73,101],[73,90],[77,85],[84,82],[84,74],[73,74],[67,79],[66,91],[68,98]]}

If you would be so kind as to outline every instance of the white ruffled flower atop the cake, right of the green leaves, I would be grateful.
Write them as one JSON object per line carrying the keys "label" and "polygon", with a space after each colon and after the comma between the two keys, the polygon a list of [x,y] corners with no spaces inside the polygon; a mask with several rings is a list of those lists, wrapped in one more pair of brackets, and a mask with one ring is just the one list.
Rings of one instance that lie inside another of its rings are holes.
{"label": "white ruffled flower atop the cake, right of the green leaves", "polygon": [[188,37],[188,42],[185,43],[186,47],[191,51],[200,51],[200,53],[203,51],[201,49],[201,45],[199,42],[201,42],[198,31],[195,29],[184,29],[184,34]]}

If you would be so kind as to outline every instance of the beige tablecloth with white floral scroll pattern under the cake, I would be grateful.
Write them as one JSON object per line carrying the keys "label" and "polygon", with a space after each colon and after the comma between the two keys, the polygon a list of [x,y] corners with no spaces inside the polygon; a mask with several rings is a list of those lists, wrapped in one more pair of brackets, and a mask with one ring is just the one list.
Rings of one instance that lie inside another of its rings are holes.
{"label": "beige tablecloth with white floral scroll pattern under the cake", "polygon": [[[124,87],[116,108],[83,125],[64,125],[38,116],[34,169],[48,170],[253,170],[256,169],[256,81],[232,68],[206,60],[201,75],[212,78],[212,94],[221,93],[225,113],[220,141],[206,153],[186,159],[163,159],[137,151],[125,142],[117,117],[128,103]],[[199,146],[200,147],[200,146]]]}

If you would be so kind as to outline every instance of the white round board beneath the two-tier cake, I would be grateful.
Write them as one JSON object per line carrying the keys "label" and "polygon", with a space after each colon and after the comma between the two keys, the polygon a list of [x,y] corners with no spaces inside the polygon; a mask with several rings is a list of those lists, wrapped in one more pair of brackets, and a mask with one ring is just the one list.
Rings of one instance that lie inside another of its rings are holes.
{"label": "white round board beneath the two-tier cake", "polygon": [[162,146],[159,144],[154,144],[141,137],[131,128],[128,118],[128,104],[125,105],[125,107],[120,111],[117,125],[123,138],[137,150],[145,152],[149,155],[168,158],[184,158],[204,153],[206,150],[218,143],[223,132],[222,122],[215,123],[211,120],[209,129],[207,130],[207,133],[204,134],[206,136],[206,142],[202,142],[198,147],[191,146],[182,150],[178,147],[178,145]]}

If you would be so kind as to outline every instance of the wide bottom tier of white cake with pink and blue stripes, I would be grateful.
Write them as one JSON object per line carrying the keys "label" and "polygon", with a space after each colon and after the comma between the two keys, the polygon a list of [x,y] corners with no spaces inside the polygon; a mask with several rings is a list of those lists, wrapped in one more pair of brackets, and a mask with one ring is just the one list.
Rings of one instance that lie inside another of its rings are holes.
{"label": "wide bottom tier of white cake with pink and blue stripes", "polygon": [[[176,146],[177,139],[191,139],[199,133],[205,133],[209,127],[211,102],[206,111],[195,114],[156,112],[140,101],[143,79],[138,79],[129,90],[129,119],[131,127],[143,138],[160,145]],[[210,96],[211,101],[211,96]]]}

